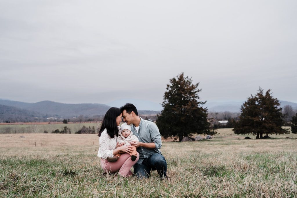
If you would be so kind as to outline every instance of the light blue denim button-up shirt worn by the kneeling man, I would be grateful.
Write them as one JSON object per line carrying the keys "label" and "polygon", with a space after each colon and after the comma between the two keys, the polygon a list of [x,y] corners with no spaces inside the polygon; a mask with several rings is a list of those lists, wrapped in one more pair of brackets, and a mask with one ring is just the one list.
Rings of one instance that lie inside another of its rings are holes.
{"label": "light blue denim button-up shirt worn by the kneeling man", "polygon": [[149,156],[155,153],[161,153],[161,151],[159,150],[162,147],[161,134],[155,123],[140,118],[138,132],[136,131],[135,126],[133,124],[131,125],[131,129],[133,134],[136,135],[136,137],[138,137],[139,142],[154,142],[156,145],[156,148],[154,149],[144,148],[141,146],[138,147],[137,152],[139,153],[139,160],[137,161],[137,164],[141,164],[144,159],[147,159]]}

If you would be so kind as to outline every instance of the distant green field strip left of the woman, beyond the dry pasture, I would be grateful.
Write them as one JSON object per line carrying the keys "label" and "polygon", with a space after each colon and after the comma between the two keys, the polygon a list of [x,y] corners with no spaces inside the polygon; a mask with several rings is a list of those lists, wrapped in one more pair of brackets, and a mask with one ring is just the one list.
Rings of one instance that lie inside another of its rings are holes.
{"label": "distant green field strip left of the woman, beyond the dry pasture", "polygon": [[[69,123],[69,124],[11,124],[11,125],[0,125],[0,134],[12,134],[12,133],[48,133],[59,129],[63,130],[64,126],[67,126],[71,133],[77,132],[83,126],[97,128],[99,123]],[[99,124],[100,125],[100,124]]]}

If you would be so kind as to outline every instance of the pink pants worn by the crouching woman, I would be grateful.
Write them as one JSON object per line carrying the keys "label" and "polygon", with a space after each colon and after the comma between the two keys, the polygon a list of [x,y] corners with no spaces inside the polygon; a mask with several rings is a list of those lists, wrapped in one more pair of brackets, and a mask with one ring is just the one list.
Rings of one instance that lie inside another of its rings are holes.
{"label": "pink pants worn by the crouching woman", "polygon": [[116,172],[119,170],[119,175],[123,177],[129,177],[133,173],[130,171],[131,167],[136,164],[139,159],[139,153],[137,152],[137,158],[135,161],[131,160],[131,156],[128,153],[121,154],[120,159],[113,162],[108,162],[106,159],[101,158],[101,167],[104,172]]}

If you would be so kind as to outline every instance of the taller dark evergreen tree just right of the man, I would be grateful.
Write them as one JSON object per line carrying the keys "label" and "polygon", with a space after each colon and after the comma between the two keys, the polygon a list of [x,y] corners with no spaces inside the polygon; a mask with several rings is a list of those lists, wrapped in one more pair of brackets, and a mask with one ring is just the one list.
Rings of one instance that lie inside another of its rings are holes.
{"label": "taller dark evergreen tree just right of the man", "polygon": [[192,78],[181,73],[170,79],[164,94],[163,110],[157,118],[157,125],[164,138],[178,136],[179,141],[185,136],[197,134],[216,134],[207,121],[207,109],[198,101],[199,83],[192,84]]}

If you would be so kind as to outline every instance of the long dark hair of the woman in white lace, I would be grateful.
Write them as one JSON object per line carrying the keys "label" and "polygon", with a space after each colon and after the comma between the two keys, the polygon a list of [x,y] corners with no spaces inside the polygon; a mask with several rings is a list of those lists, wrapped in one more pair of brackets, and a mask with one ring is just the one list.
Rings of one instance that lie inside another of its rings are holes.
{"label": "long dark hair of the woman in white lace", "polygon": [[118,135],[119,133],[119,128],[116,125],[116,117],[118,117],[119,115],[121,115],[121,111],[119,108],[117,107],[111,107],[104,115],[100,130],[99,130],[99,134],[98,136],[100,137],[102,131],[104,131],[104,129],[107,130],[107,134],[111,137],[114,138],[114,136]]}

